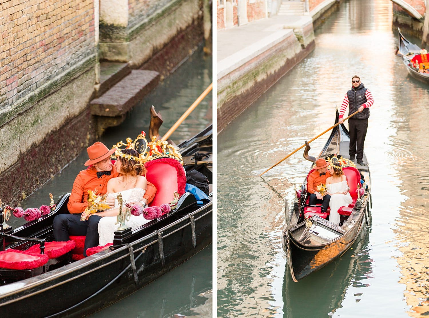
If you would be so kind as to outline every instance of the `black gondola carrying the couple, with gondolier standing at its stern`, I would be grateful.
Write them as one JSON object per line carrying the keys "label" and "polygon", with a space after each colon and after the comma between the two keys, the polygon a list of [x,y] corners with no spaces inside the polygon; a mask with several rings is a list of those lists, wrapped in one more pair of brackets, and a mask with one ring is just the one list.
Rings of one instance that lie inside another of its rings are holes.
{"label": "black gondola carrying the couple, with gondolier standing at its stern", "polygon": [[[337,122],[338,110],[335,116],[335,123]],[[349,158],[349,141],[347,128],[343,124],[336,126],[332,129],[328,141],[316,159],[328,159],[333,155],[338,158]],[[305,155],[307,152],[308,149],[306,149]],[[365,155],[364,160],[366,161]],[[365,219],[368,223],[371,196],[369,166],[356,168],[350,160],[345,159],[343,162],[348,162],[348,166],[343,167],[343,171],[347,176],[353,203],[341,211],[341,226],[325,219],[327,211],[314,212],[320,211],[321,208],[306,206],[308,204],[307,178],[313,171],[313,164],[301,188],[296,191],[295,202],[290,209],[288,209],[285,199],[286,221],[282,232],[282,246],[287,256],[290,274],[295,282],[345,253],[360,234]],[[362,197],[356,193],[356,188],[361,184],[361,177],[365,180]]]}

